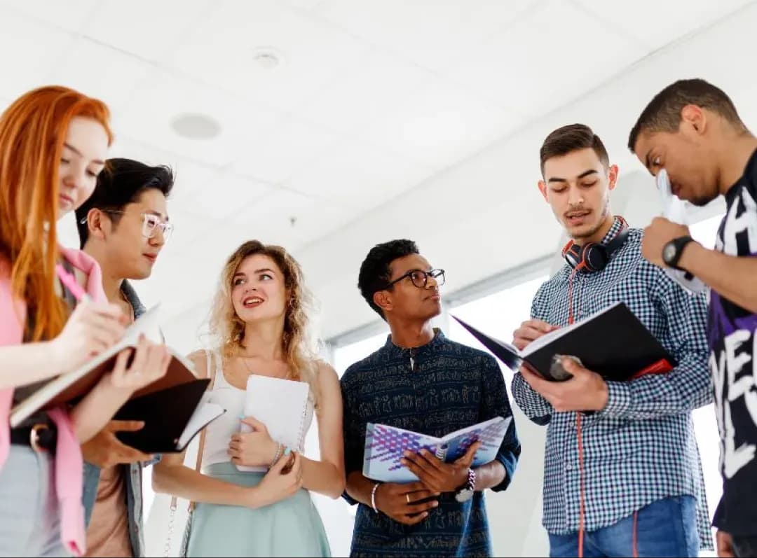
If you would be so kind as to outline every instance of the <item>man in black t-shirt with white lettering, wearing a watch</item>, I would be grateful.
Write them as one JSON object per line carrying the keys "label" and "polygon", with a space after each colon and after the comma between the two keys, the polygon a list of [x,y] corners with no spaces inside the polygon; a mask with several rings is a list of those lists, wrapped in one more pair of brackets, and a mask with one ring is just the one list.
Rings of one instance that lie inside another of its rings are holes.
{"label": "man in black t-shirt with white lettering, wearing a watch", "polygon": [[658,217],[646,228],[642,252],[711,289],[709,361],[723,475],[718,555],[757,556],[757,138],[723,91],[687,79],[653,98],[628,147],[653,175],[665,169],[682,200],[703,206],[722,194],[727,202],[715,250]]}

